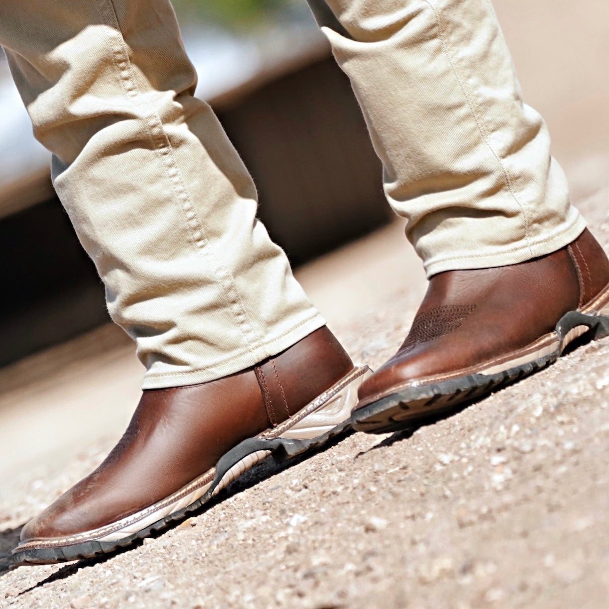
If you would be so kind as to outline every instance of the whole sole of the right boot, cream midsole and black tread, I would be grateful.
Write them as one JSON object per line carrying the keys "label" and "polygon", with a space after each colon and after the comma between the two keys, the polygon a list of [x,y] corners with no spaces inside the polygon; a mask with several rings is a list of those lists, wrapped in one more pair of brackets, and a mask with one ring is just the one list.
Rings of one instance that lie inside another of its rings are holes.
{"label": "whole sole of the right boot, cream midsole and black tread", "polygon": [[609,336],[609,308],[599,313],[571,311],[557,323],[555,331],[500,362],[481,365],[474,373],[461,371],[438,382],[423,381],[396,390],[353,412],[351,426],[371,434],[408,429],[426,420],[442,417],[519,381],[557,361],[566,347],[578,339],[597,340]]}

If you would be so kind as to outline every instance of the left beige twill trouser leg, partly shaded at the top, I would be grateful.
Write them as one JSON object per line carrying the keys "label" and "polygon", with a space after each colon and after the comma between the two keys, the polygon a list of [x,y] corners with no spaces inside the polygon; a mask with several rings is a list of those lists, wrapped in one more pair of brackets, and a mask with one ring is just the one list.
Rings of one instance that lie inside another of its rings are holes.
{"label": "left beige twill trouser leg, partly shaded at the top", "polygon": [[144,389],[229,375],[324,325],[192,96],[169,2],[2,0],[0,43]]}

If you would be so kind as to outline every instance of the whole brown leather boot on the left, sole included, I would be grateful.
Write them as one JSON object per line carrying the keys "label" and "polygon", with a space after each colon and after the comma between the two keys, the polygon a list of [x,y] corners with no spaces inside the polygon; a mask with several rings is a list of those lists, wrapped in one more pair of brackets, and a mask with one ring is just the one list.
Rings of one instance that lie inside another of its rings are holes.
{"label": "whole brown leather boot on the left, sole included", "polygon": [[292,457],[348,427],[355,368],[321,328],[217,381],[143,392],[102,465],[23,528],[16,565],[91,557],[183,518],[265,459]]}

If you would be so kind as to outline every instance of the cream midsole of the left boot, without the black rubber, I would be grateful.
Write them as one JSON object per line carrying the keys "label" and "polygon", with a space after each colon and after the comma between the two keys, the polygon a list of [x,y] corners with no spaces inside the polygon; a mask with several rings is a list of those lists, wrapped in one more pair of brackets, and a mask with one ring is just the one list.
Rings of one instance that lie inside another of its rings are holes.
{"label": "cream midsole of the left boot, without the black rubber", "polygon": [[[262,439],[286,438],[295,440],[311,440],[325,434],[331,429],[344,423],[351,415],[351,409],[357,403],[357,389],[365,378],[370,376],[370,368],[354,368],[345,378],[337,382],[333,387],[323,392],[314,401],[301,409],[294,417],[281,423],[275,429],[269,429],[259,435]],[[258,450],[251,452],[243,459],[235,463],[222,476],[213,491],[213,495],[219,493],[222,488],[227,487],[245,471],[252,468],[256,463],[266,459],[270,450]],[[115,523],[105,527],[94,529],[72,535],[66,538],[53,540],[32,540],[19,545],[15,552],[29,548],[61,547],[74,545],[85,541],[120,541],[135,535],[146,529],[151,524],[160,521],[172,513],[183,510],[193,504],[209,490],[216,476],[215,468],[206,471],[205,474],[194,479],[185,487],[176,491],[173,495],[163,499],[157,504],[150,505],[144,510],[136,512]]]}

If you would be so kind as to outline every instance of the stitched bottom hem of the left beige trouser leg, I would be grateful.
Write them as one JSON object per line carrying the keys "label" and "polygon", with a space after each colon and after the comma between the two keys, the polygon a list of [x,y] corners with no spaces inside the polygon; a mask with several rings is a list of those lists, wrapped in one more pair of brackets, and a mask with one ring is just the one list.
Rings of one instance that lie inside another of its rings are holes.
{"label": "stitched bottom hem of the left beige trouser leg", "polygon": [[315,330],[326,325],[326,320],[319,313],[298,323],[292,329],[280,336],[271,337],[255,348],[238,353],[228,360],[209,365],[205,368],[182,371],[177,373],[157,373],[144,376],[142,389],[166,389],[167,387],[183,387],[198,385],[203,382],[215,381],[223,376],[251,368],[267,357],[272,357],[295,345],[299,340],[309,336]]}

